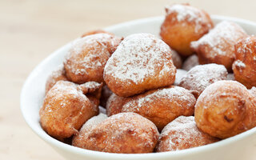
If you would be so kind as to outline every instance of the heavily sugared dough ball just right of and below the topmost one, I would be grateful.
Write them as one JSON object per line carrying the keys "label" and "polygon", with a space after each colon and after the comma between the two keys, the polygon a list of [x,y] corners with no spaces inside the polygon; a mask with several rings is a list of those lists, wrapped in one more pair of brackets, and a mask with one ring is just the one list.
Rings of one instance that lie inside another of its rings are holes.
{"label": "heavily sugared dough ball just right of and below the topmost one", "polygon": [[234,62],[234,44],[245,38],[246,32],[234,22],[220,22],[198,41],[191,42],[191,50],[198,54],[200,64],[217,63],[231,71]]}

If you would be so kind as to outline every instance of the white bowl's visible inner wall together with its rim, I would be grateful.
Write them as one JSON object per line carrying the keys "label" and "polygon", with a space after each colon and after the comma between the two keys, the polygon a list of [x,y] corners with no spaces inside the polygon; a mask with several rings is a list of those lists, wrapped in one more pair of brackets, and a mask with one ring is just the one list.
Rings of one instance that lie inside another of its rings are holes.
{"label": "white bowl's visible inner wall together with its rim", "polygon": [[[227,18],[222,16],[212,16],[214,23],[218,23],[223,20],[228,20],[232,22],[237,22],[248,34],[256,34],[256,24],[254,22],[238,19],[238,18]],[[132,22],[125,22],[122,24],[118,24],[115,26],[107,27],[105,30],[112,32],[118,36],[126,37],[129,34],[134,33],[151,33],[158,36],[161,23],[164,17],[154,17],[154,18],[145,18],[139,19]],[[51,138],[39,124],[39,109],[42,106],[43,97],[45,95],[45,84],[46,78],[50,74],[52,70],[54,70],[59,64],[63,62],[65,55],[67,54],[68,50],[70,50],[72,42],[66,44],[66,46],[62,46],[62,48],[56,50],[53,54],[46,59],[44,59],[35,69],[30,73],[30,76],[26,79],[26,82],[22,88],[21,94],[21,110],[23,117],[25,118],[26,122],[30,126],[32,130],[36,134],[39,135],[42,139],[50,144],[58,147],[62,147],[65,150],[71,150],[73,152],[77,152],[79,154],[95,154],[95,151],[91,150],[82,150],[74,146],[66,145],[65,143],[58,142],[58,140]],[[234,136],[233,138],[228,138],[223,140],[222,142],[217,142],[219,145],[225,145],[228,142],[235,141],[239,138],[244,138],[249,136],[250,134],[255,134],[256,129],[248,130],[243,134],[239,134]],[[186,153],[186,152],[196,152],[199,150],[210,150],[211,147],[215,147],[216,143],[197,147],[194,149],[189,150],[181,150],[178,152],[170,152],[164,154],[179,154],[179,153]],[[98,153],[99,154],[99,153]],[[101,155],[105,155],[108,153],[101,153]],[[159,153],[161,154],[161,153]],[[110,154],[109,154],[110,155]],[[117,154],[116,154],[117,155]],[[155,154],[151,154],[150,157],[153,158]],[[122,154],[118,154],[118,156],[122,157]],[[128,156],[128,155],[126,155]],[[138,158],[139,154],[129,154],[130,158]],[[143,157],[146,155],[144,154]],[[147,158],[150,158],[147,157]],[[110,157],[109,157],[110,158]]]}

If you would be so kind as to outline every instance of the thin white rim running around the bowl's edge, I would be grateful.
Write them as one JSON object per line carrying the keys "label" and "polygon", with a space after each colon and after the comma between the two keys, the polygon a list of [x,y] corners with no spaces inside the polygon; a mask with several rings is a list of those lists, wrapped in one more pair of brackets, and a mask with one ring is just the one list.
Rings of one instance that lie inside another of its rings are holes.
{"label": "thin white rim running around the bowl's edge", "polygon": [[[249,20],[242,19],[242,18],[233,18],[233,17],[221,16],[221,15],[211,15],[210,17],[213,20],[219,20],[219,21],[228,20],[228,21],[233,21],[233,22],[246,23],[248,25],[256,27],[255,22],[251,22]],[[164,16],[141,18],[141,19],[136,19],[136,20],[132,20],[132,21],[129,21],[129,22],[118,23],[114,26],[106,27],[103,30],[106,30],[106,31],[114,30],[115,28],[120,28],[122,26],[136,25],[138,23],[149,22],[149,21],[158,21],[159,19],[163,19],[163,18],[164,18]],[[106,158],[106,157],[107,158],[114,158],[114,159],[123,159],[123,158],[126,158],[126,159],[134,159],[134,158],[137,158],[137,159],[138,158],[139,159],[175,158],[175,157],[181,157],[181,156],[188,155],[188,154],[199,154],[201,152],[214,150],[217,147],[226,146],[226,145],[228,145],[232,142],[236,142],[236,141],[242,140],[244,138],[247,138],[252,134],[256,134],[256,127],[254,127],[250,130],[246,130],[242,134],[238,134],[238,135],[235,135],[234,137],[226,138],[226,139],[223,139],[219,142],[214,142],[214,143],[208,144],[206,146],[198,146],[198,147],[194,147],[194,148],[190,148],[190,149],[186,149],[186,150],[177,150],[177,151],[160,152],[160,153],[148,153],[148,154],[106,153],[106,152],[100,152],[100,151],[95,151],[95,150],[86,150],[86,149],[78,148],[76,146],[71,146],[71,145],[68,145],[66,143],[60,142],[57,139],[50,137],[50,135],[46,134],[45,131],[37,130],[34,127],[33,122],[30,121],[30,118],[26,116],[26,101],[24,99],[26,97],[26,94],[25,94],[26,90],[29,88],[30,83],[32,81],[32,78],[34,78],[34,73],[36,73],[38,70],[41,70],[42,66],[45,66],[45,64],[51,58],[53,58],[56,54],[58,54],[59,52],[62,52],[63,50],[66,50],[66,48],[70,47],[72,42],[69,42],[65,46],[62,46],[58,50],[55,50],[52,54],[50,54],[48,57],[43,59],[42,62],[40,62],[37,66],[34,67],[34,70],[32,70],[30,72],[29,76],[26,78],[26,81],[24,82],[24,84],[22,86],[22,91],[21,91],[21,95],[20,95],[20,109],[22,111],[22,116],[25,119],[27,125],[30,126],[30,129],[33,130],[35,134],[38,134],[38,136],[40,138],[42,138],[42,140],[44,140],[47,143],[53,145],[54,147],[61,148],[62,150],[66,150],[68,152],[73,152],[74,154],[79,154],[79,155],[87,156],[87,157],[90,156],[91,158],[103,158],[103,159]]]}

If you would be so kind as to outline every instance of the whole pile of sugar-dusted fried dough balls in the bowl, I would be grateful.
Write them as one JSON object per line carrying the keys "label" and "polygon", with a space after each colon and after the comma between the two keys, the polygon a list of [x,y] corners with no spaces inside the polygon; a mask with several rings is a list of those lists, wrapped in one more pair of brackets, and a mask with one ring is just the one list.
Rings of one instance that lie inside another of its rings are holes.
{"label": "whole pile of sugar-dusted fried dough balls in the bowl", "polygon": [[166,7],[160,36],[94,30],[74,41],[46,82],[43,130],[83,149],[138,154],[256,126],[256,36],[234,22],[214,26],[188,4]]}

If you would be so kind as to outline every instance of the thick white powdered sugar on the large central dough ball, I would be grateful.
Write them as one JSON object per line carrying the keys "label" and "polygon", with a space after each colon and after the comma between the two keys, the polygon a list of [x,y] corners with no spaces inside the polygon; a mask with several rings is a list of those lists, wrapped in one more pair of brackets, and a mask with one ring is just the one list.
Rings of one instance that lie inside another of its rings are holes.
{"label": "thick white powdered sugar on the large central dough ball", "polygon": [[[154,76],[155,67],[161,67],[160,74],[170,70],[163,57],[164,53],[170,53],[170,47],[153,34],[132,34],[125,38],[114,52],[110,61],[106,63],[105,74],[115,78],[138,84],[145,78]],[[127,57],[129,55],[129,57]],[[167,59],[171,54],[166,54]],[[111,65],[111,61],[116,62]]]}

